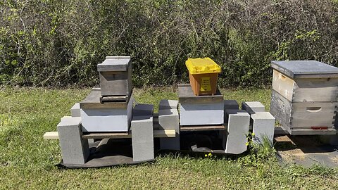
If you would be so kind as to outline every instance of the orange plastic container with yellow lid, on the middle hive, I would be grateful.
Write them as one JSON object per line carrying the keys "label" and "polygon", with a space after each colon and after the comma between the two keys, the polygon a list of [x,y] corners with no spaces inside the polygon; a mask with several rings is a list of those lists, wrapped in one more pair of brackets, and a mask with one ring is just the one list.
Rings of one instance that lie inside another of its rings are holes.
{"label": "orange plastic container with yellow lid, on the middle hive", "polygon": [[214,95],[218,73],[222,70],[211,58],[188,58],[185,65],[189,70],[190,86],[196,96]]}

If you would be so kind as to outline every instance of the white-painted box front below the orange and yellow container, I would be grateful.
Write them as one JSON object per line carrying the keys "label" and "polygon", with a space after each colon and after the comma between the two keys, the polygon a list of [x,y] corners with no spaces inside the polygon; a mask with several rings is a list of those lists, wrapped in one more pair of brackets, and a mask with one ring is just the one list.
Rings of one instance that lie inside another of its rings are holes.
{"label": "white-painted box front below the orange and yellow container", "polygon": [[180,125],[221,125],[224,103],[180,103]]}

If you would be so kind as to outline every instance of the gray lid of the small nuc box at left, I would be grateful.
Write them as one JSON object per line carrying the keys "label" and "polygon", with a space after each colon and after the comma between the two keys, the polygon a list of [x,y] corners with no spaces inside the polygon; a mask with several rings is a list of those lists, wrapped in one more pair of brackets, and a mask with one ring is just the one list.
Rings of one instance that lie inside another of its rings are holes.
{"label": "gray lid of the small nuc box at left", "polygon": [[107,56],[103,63],[97,64],[97,71],[127,71],[130,56]]}

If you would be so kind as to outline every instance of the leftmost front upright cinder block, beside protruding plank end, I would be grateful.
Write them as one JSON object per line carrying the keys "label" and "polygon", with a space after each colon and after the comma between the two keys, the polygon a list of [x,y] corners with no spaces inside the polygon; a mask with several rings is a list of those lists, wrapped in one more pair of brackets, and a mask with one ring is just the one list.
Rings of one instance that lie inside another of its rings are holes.
{"label": "leftmost front upright cinder block, beside protruding plank end", "polygon": [[63,163],[86,163],[89,156],[89,145],[87,139],[81,138],[81,118],[63,117],[57,128]]}

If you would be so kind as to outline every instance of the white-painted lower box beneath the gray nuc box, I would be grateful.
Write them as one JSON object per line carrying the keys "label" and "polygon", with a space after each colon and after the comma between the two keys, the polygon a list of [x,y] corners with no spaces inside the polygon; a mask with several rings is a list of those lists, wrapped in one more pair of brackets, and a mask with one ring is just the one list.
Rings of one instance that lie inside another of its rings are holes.
{"label": "white-painted lower box beneath the gray nuc box", "polygon": [[132,120],[133,99],[125,108],[98,108],[81,111],[83,132],[127,132]]}

